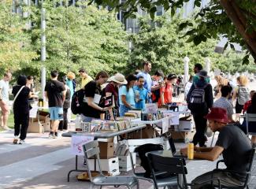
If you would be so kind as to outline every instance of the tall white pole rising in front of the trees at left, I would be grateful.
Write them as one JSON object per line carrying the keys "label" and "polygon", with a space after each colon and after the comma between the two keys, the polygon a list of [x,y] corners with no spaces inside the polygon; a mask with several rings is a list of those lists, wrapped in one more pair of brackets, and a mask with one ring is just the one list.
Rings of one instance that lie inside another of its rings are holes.
{"label": "tall white pole rising in front of the trees at left", "polygon": [[43,98],[43,102],[45,102],[44,97],[44,87],[46,86],[46,68],[44,66],[44,62],[46,61],[46,9],[41,9],[41,94]]}

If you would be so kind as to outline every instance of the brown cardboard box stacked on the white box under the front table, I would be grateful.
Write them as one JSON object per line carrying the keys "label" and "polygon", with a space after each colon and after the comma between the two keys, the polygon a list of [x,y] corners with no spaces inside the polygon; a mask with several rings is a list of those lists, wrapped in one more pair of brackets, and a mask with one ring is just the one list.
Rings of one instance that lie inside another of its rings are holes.
{"label": "brown cardboard box stacked on the white box under the front table", "polygon": [[99,147],[99,158],[109,159],[113,158],[114,146],[113,143],[109,142],[98,142]]}

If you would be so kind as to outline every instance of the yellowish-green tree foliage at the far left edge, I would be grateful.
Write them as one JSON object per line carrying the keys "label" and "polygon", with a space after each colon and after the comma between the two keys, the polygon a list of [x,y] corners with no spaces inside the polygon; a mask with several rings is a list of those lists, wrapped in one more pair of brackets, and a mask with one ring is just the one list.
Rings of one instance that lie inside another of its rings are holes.
{"label": "yellowish-green tree foliage at the far left edge", "polygon": [[0,74],[28,66],[37,54],[25,34],[25,21],[11,13],[12,1],[0,2]]}

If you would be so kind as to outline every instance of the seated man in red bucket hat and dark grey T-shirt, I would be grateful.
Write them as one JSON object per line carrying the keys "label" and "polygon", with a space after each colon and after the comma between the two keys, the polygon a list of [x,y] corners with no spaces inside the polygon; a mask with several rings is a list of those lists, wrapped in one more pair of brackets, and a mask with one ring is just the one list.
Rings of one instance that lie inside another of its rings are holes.
{"label": "seated man in red bucket hat and dark grey T-shirt", "polygon": [[[209,122],[210,129],[213,132],[220,133],[214,147],[195,147],[194,158],[215,161],[223,154],[224,164],[228,170],[246,172],[249,166],[246,154],[251,150],[250,139],[248,139],[247,135],[235,125],[228,124],[226,109],[212,108],[205,118]],[[181,149],[180,153],[187,155],[187,149]],[[211,182],[202,182],[212,179],[219,179],[221,185],[232,187],[232,183],[243,186],[245,176],[243,174],[231,174],[230,172],[213,170],[192,180],[194,185],[191,188],[211,188]],[[214,180],[213,186],[216,187],[217,185],[217,180]]]}

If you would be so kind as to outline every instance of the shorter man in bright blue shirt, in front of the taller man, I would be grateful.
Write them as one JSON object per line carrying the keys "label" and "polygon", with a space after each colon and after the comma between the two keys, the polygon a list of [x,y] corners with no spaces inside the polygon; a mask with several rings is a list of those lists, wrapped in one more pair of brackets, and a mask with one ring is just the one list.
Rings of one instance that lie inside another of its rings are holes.
{"label": "shorter man in bright blue shirt, in front of the taller man", "polygon": [[137,79],[138,85],[133,87],[135,92],[135,108],[145,110],[145,104],[148,101],[148,93],[147,89],[143,87],[144,78],[143,76],[139,76]]}

